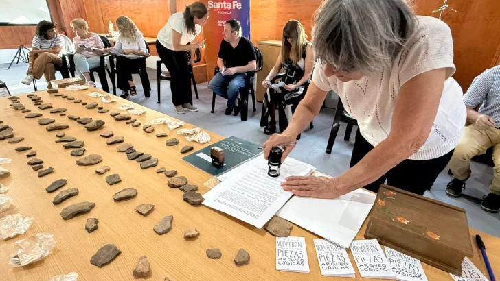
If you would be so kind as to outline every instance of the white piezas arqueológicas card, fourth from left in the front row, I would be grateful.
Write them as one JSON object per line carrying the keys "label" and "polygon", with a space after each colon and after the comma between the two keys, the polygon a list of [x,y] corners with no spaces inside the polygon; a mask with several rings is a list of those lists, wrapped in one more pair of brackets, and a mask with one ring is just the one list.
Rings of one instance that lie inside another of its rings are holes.
{"label": "white piezas arqueol\u00f3gicas card, fourth from left in the front row", "polygon": [[396,279],[402,281],[427,281],[424,269],[420,260],[402,254],[394,249],[385,246],[385,256],[389,261]]}

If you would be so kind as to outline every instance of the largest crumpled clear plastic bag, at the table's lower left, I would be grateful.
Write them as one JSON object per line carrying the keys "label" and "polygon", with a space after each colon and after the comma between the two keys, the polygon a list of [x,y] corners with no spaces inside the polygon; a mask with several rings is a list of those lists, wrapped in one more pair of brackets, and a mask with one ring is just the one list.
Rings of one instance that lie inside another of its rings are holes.
{"label": "largest crumpled clear plastic bag, at the table's lower left", "polygon": [[14,243],[15,252],[10,255],[9,265],[23,267],[32,262],[43,260],[56,247],[54,235],[37,233]]}

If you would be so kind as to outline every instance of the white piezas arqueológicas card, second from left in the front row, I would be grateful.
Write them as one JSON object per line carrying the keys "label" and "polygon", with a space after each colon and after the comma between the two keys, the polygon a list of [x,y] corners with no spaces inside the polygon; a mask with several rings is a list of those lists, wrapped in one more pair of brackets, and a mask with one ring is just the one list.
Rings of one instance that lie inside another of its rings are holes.
{"label": "white piezas arqueol\u00f3gicas card, second from left in the front row", "polygon": [[356,271],[344,247],[325,239],[315,239],[314,242],[321,275],[356,277]]}

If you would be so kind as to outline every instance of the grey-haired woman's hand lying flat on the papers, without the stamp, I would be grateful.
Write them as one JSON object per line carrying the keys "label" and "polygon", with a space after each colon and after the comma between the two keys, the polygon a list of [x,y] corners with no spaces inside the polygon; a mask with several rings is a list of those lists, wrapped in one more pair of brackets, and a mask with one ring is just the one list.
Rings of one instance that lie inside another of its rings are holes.
{"label": "grey-haired woman's hand lying flat on the papers, without the stamp", "polygon": [[297,196],[334,199],[341,195],[337,191],[334,178],[292,176],[286,178],[286,182],[282,182],[281,186],[285,191],[291,191]]}

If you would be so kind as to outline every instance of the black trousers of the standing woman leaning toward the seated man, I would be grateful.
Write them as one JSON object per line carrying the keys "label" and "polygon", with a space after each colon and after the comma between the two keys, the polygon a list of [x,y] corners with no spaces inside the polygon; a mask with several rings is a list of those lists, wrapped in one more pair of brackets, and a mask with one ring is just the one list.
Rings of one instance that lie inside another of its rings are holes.
{"label": "black trousers of the standing woman leaning toward the seated man", "polygon": [[174,106],[185,103],[193,104],[191,93],[191,74],[189,71],[188,58],[185,51],[172,51],[156,42],[158,56],[170,73],[170,90],[172,91],[172,102]]}

